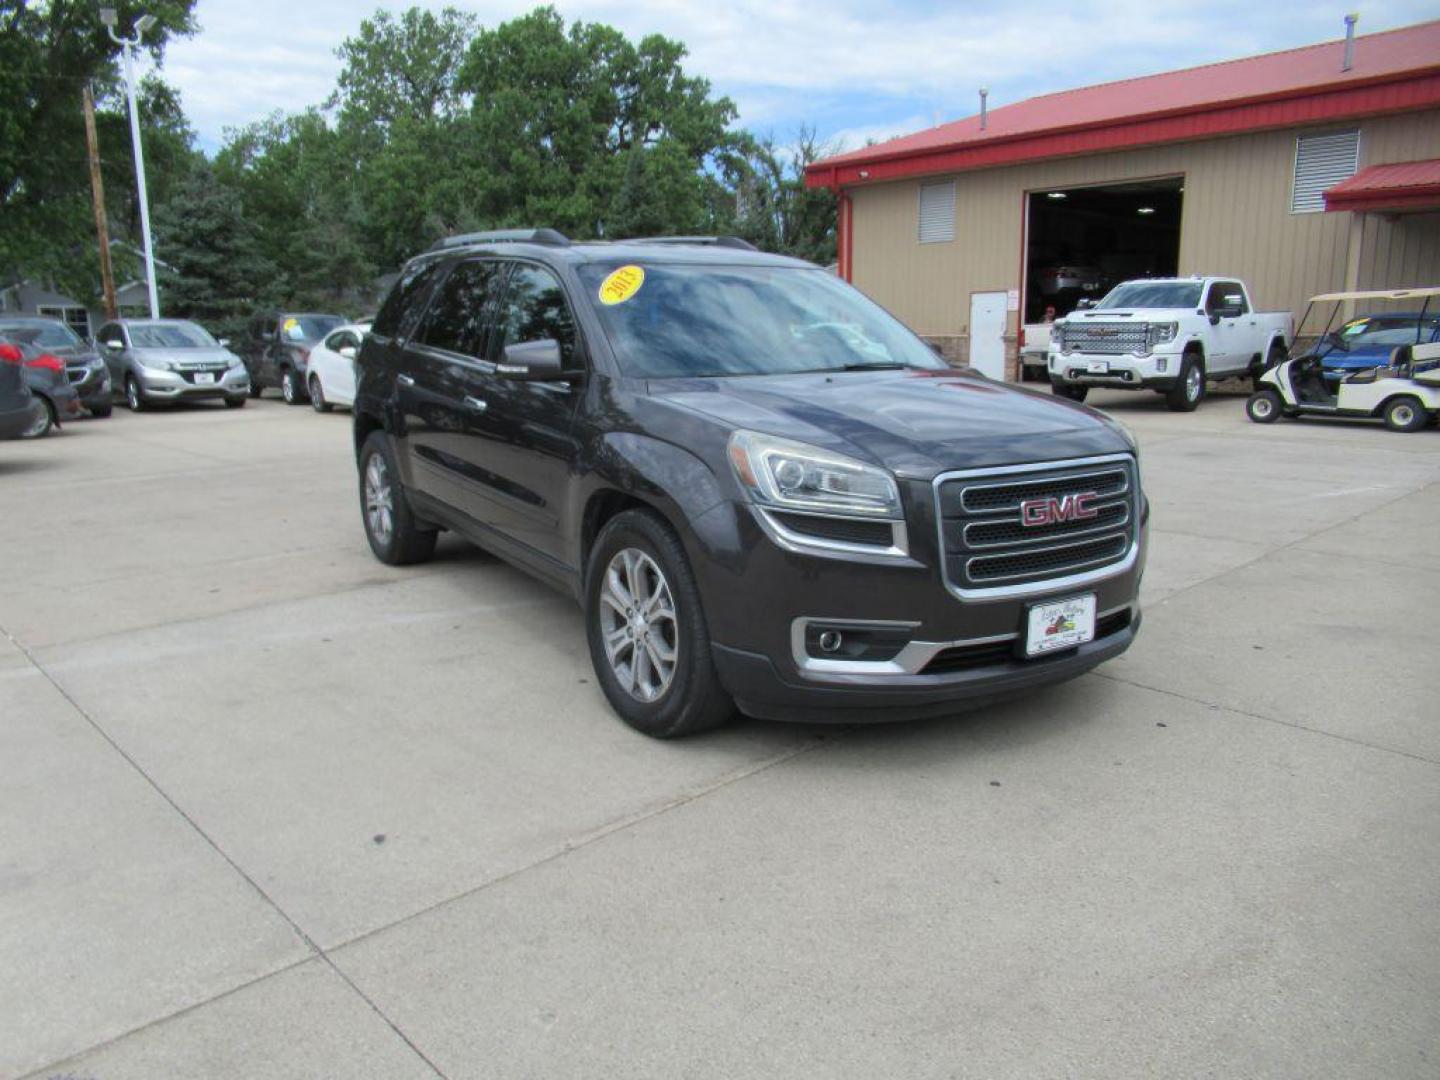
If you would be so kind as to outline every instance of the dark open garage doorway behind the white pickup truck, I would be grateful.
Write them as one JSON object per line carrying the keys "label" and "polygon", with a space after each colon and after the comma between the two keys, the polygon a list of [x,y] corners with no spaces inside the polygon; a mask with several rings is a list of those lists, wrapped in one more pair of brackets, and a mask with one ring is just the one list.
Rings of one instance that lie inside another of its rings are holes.
{"label": "dark open garage doorway behind the white pickup truck", "polygon": [[1129,278],[1174,276],[1184,199],[1179,176],[1031,192],[1025,324],[1068,315],[1081,300],[1099,300]]}

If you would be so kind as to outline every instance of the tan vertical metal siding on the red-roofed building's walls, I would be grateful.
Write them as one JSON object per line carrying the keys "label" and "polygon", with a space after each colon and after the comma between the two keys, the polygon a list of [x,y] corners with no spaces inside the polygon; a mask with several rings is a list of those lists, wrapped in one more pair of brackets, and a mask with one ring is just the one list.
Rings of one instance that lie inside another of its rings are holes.
{"label": "tan vertical metal siding on the red-roofed building's walls", "polygon": [[[1362,168],[1440,157],[1440,112],[1381,117],[1358,127]],[[950,243],[916,242],[920,181],[852,189],[855,285],[922,334],[965,336],[971,292],[1020,285],[1025,192],[1184,176],[1179,272],[1241,276],[1260,307],[1299,315],[1306,298],[1345,284],[1349,235],[1348,213],[1290,213],[1299,132],[959,173]],[[1440,281],[1437,228],[1433,215],[1377,219],[1367,230],[1361,287]]]}

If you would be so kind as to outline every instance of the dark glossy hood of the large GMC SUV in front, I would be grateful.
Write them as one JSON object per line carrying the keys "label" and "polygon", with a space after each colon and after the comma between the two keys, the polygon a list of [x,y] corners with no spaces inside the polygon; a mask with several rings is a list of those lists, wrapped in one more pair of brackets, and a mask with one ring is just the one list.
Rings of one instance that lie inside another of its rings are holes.
{"label": "dark glossy hood of the large GMC SUV in front", "polygon": [[969,372],[657,379],[649,393],[657,403],[848,454],[909,480],[1132,449],[1093,409]]}

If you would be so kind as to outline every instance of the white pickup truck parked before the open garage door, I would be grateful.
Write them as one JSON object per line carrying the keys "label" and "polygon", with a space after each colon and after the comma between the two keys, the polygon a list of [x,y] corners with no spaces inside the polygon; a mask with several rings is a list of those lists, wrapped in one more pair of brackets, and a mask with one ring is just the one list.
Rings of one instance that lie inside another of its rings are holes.
{"label": "white pickup truck parked before the open garage door", "polygon": [[1256,311],[1236,278],[1126,281],[1050,333],[1051,389],[1083,402],[1092,386],[1158,390],[1176,412],[1205,396],[1208,379],[1259,377],[1286,359],[1289,311]]}

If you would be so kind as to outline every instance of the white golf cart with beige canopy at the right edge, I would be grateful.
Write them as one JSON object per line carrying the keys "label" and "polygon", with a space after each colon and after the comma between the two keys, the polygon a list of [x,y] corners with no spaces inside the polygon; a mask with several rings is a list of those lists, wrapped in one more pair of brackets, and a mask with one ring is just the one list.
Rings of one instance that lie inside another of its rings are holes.
{"label": "white golf cart with beige canopy at the right edge", "polygon": [[[1382,292],[1326,292],[1310,300],[1300,321],[1303,330],[1316,304],[1333,304],[1318,344],[1300,356],[1269,369],[1256,382],[1246,402],[1246,415],[1256,423],[1282,416],[1378,416],[1391,431],[1420,431],[1440,416],[1440,343],[1426,341],[1423,327],[1430,302],[1440,285]],[[1395,346],[1385,363],[1346,374],[1338,383],[1322,370],[1322,343],[1332,338],[1331,327],[1339,305],[1364,300],[1423,300],[1416,318],[1416,340]]]}

